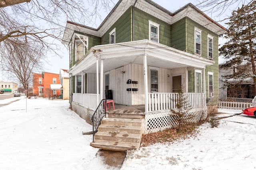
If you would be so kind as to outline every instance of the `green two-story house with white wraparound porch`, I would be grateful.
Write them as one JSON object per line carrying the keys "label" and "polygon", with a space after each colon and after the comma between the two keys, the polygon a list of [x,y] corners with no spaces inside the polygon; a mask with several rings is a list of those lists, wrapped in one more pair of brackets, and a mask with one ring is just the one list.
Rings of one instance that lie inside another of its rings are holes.
{"label": "green two-story house with white wraparound porch", "polygon": [[145,106],[146,130],[163,129],[182,88],[190,112],[206,113],[206,98],[218,99],[226,31],[192,4],[172,13],[151,0],[120,0],[97,29],[67,21],[72,108],[90,117],[111,90],[116,104]]}

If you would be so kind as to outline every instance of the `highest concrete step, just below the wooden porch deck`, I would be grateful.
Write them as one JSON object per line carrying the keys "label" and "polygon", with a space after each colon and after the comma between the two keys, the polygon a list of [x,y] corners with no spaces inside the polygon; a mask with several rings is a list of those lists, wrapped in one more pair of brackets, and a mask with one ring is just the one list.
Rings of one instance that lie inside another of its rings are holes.
{"label": "highest concrete step, just below the wooden porch deck", "polygon": [[106,118],[106,119],[102,119],[101,124],[105,124],[105,125],[124,125],[124,126],[141,126],[142,119]]}

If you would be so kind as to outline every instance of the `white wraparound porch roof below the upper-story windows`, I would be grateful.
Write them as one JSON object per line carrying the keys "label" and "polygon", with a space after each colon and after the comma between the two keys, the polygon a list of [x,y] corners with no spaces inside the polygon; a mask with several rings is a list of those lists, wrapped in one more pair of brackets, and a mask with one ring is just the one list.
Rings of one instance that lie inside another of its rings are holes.
{"label": "white wraparound porch roof below the upper-story windows", "polygon": [[186,53],[154,41],[140,40],[94,46],[68,72],[73,75],[81,74],[81,71],[96,73],[97,58],[104,60],[104,72],[130,63],[143,65],[145,54],[148,66],[166,69],[188,67],[189,70],[193,70],[215,63],[199,55]]}

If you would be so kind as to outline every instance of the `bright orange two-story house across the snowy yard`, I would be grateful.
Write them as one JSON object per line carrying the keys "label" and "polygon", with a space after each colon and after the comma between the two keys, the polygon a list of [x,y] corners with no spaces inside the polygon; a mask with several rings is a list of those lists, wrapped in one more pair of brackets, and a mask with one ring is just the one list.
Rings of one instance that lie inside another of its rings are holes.
{"label": "bright orange two-story house across the snowy yard", "polygon": [[44,98],[48,97],[47,93],[60,96],[63,88],[58,77],[59,74],[51,72],[33,73],[33,94]]}

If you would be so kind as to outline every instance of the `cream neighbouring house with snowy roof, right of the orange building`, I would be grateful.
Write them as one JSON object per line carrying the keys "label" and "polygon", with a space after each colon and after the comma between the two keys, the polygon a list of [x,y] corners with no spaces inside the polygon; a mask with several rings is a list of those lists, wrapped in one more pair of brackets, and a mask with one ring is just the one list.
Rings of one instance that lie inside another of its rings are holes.
{"label": "cream neighbouring house with snowy roof, right of the orange building", "polygon": [[59,80],[60,80],[60,84],[63,87],[63,90],[60,93],[60,94],[62,94],[62,99],[63,100],[68,100],[69,99],[69,74],[68,74],[68,70],[60,69]]}

